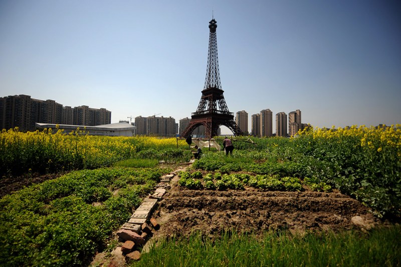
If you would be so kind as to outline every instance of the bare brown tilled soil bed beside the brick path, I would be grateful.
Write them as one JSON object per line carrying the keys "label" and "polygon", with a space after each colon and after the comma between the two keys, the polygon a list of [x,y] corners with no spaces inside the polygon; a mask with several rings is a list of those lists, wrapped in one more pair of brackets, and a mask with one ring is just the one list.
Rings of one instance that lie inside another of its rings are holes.
{"label": "bare brown tilled soil bed beside the brick path", "polygon": [[[224,230],[262,233],[289,229],[314,230],[370,228],[379,221],[368,209],[340,193],[280,192],[247,188],[244,191],[188,190],[172,186],[154,214],[157,236],[189,235],[192,231],[214,237]],[[355,226],[355,216],[363,225]]]}

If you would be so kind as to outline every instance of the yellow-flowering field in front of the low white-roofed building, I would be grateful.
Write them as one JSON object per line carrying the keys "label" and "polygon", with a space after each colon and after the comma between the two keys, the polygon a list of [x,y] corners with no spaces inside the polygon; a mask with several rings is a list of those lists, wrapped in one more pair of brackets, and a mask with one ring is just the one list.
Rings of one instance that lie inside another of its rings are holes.
{"label": "yellow-flowering field in front of the low white-roofed building", "polygon": [[[187,148],[183,140],[178,148]],[[0,132],[0,174],[57,172],[93,169],[133,158],[142,150],[176,150],[175,138],[102,137],[86,135],[77,129],[66,135],[63,130],[21,132],[18,128]]]}

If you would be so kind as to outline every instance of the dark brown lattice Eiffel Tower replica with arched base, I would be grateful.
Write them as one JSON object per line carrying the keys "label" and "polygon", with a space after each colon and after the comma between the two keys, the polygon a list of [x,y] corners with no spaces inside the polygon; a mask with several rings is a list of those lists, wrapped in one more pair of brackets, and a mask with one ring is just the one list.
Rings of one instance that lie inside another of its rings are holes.
{"label": "dark brown lattice Eiffel Tower replica with arched base", "polygon": [[234,113],[229,111],[223,96],[217,56],[216,28],[216,20],[213,18],[209,22],[209,53],[205,86],[197,109],[192,113],[191,121],[181,133],[181,138],[188,138],[192,131],[200,125],[205,126],[205,136],[208,139],[218,135],[221,125],[227,126],[235,136],[243,135],[240,127],[234,121]]}

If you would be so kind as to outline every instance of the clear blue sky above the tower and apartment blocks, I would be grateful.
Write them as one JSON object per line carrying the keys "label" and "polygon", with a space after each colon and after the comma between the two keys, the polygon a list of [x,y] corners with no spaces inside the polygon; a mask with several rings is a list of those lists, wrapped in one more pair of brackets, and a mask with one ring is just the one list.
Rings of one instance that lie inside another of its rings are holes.
{"label": "clear blue sky above the tower and apartment blocks", "polygon": [[212,11],[224,96],[249,124],[267,108],[274,128],[296,109],[318,127],[401,123],[401,2],[385,0],[0,0],[0,96],[178,122],[202,96]]}

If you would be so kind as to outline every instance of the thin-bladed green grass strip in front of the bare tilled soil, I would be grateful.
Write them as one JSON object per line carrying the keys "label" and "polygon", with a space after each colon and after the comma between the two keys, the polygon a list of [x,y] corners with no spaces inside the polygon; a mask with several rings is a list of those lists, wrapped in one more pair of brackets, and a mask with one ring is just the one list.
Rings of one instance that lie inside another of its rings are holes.
{"label": "thin-bladed green grass strip in front of the bare tilled soil", "polygon": [[375,229],[369,233],[288,232],[253,234],[224,233],[218,240],[192,234],[189,238],[163,239],[142,266],[399,266],[401,226]]}

